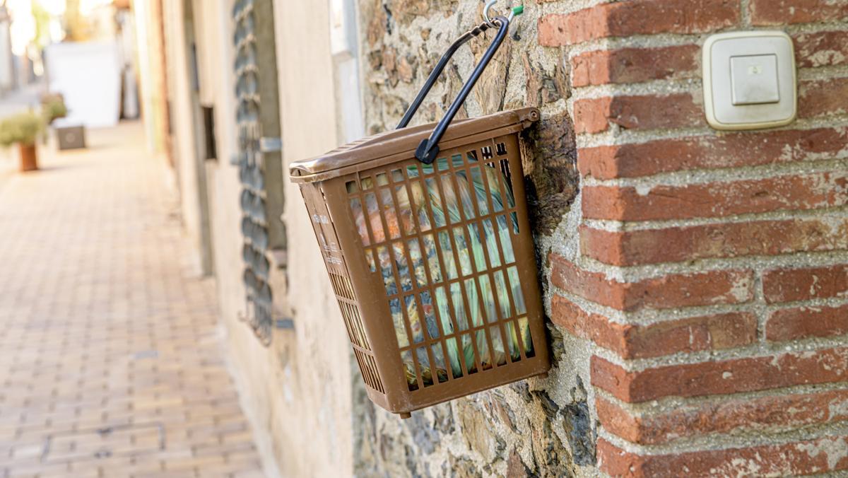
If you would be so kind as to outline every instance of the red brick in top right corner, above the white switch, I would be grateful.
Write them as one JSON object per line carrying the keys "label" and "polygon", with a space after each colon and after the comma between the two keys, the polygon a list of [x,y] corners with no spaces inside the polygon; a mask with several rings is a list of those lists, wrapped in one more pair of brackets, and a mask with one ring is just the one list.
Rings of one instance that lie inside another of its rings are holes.
{"label": "red brick in top right corner, above the white switch", "polygon": [[754,25],[848,20],[848,3],[836,0],[751,0]]}

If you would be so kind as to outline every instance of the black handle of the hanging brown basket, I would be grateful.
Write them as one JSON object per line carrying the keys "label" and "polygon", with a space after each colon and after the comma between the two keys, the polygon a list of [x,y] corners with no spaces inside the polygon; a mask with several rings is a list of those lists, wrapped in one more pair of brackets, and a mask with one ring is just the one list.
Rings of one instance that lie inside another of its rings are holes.
{"label": "black handle of the hanging brown basket", "polygon": [[[512,16],[512,15],[510,15]],[[444,132],[448,129],[450,125],[450,121],[453,121],[454,116],[457,112],[459,112],[460,107],[463,103],[466,102],[466,98],[468,98],[468,93],[471,93],[471,88],[477,83],[477,80],[480,78],[480,75],[483,74],[483,70],[488,66],[489,61],[494,57],[494,53],[498,51],[500,48],[500,44],[504,42],[504,38],[506,37],[507,32],[510,31],[510,20],[507,20],[505,17],[495,17],[492,20],[494,25],[498,25],[498,35],[494,37],[492,44],[488,46],[486,53],[483,53],[483,58],[480,59],[480,63],[474,67],[474,71],[471,72],[471,76],[468,78],[468,81],[465,85],[462,86],[460,93],[454,99],[454,102],[450,104],[450,108],[444,114],[442,121],[438,122],[436,128],[430,134],[430,138],[427,138],[421,141],[421,144],[418,145],[418,149],[416,149],[416,158],[420,160],[424,164],[432,164],[434,160],[436,160],[436,156],[438,155],[438,142],[442,139]],[[401,129],[406,127],[409,124],[410,120],[412,120],[412,116],[416,114],[416,111],[421,106],[421,103],[424,101],[424,98],[427,97],[427,93],[430,93],[430,89],[436,83],[438,76],[442,74],[444,67],[448,65],[448,61],[456,50],[459,49],[466,42],[471,40],[473,37],[477,37],[483,33],[483,31],[487,31],[491,25],[488,22],[484,22],[479,26],[475,27],[470,31],[466,31],[461,37],[459,37],[450,47],[448,51],[442,55],[442,59],[438,60],[438,64],[430,73],[430,76],[427,77],[427,82],[424,83],[424,87],[421,88],[421,91],[418,92],[418,96],[416,99],[410,104],[408,110],[404,114],[404,118],[400,120],[398,127],[396,129]]]}

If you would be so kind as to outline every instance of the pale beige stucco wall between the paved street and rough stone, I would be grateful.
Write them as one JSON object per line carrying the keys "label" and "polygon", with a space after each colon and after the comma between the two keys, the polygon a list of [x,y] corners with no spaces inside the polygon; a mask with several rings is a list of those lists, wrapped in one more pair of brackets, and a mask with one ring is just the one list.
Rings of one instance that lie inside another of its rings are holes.
{"label": "pale beige stucco wall between the paved street and rough stone", "polygon": [[[263,346],[243,317],[243,237],[239,224],[241,183],[232,158],[237,154],[236,101],[233,96],[232,1],[194,1],[198,40],[199,101],[215,107],[218,158],[206,161],[210,224],[214,239],[215,278],[226,355],[237,380],[243,409],[268,475],[344,476],[353,469],[351,380],[347,335],[315,236],[297,188],[287,177],[266,177],[269,187],[286,195],[283,220],[290,224],[287,268],[272,266],[276,318],[293,318],[294,329],[275,329]],[[181,8],[170,4],[170,42],[181,41]],[[276,54],[281,92],[283,156],[299,160],[334,148],[334,87],[326,10],[321,5],[275,3]],[[222,33],[223,32],[223,33]],[[303,50],[310,39],[309,51]],[[186,61],[175,50],[171,65]],[[316,60],[317,59],[317,60]],[[179,63],[181,65],[181,63]],[[198,200],[190,163],[192,118],[184,68],[172,69],[174,135],[180,143],[182,210],[196,217]],[[179,137],[179,138],[177,138]],[[188,226],[188,224],[187,224]],[[192,230],[188,233],[194,235]]]}

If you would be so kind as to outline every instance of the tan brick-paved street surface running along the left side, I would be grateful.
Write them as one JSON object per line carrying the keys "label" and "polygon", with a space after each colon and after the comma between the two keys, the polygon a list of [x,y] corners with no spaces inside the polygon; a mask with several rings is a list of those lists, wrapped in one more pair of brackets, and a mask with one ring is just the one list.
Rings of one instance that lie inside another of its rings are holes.
{"label": "tan brick-paved street surface running along the left side", "polygon": [[0,477],[261,476],[164,166],[89,136],[0,188]]}

